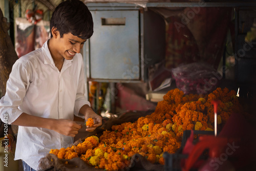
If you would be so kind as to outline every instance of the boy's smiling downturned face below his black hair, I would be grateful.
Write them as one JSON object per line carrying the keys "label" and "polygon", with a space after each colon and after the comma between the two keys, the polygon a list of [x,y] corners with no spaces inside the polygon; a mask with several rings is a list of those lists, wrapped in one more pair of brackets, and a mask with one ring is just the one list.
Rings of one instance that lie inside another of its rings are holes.
{"label": "boy's smiling downturned face below his black hair", "polygon": [[63,34],[62,38],[57,37],[57,53],[67,60],[73,59],[76,53],[80,53],[86,39],[79,38],[72,33]]}

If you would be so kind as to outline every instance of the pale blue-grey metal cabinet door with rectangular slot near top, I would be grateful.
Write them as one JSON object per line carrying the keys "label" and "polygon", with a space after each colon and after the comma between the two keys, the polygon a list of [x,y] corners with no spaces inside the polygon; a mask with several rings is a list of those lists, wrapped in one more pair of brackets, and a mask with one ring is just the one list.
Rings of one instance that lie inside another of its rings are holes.
{"label": "pale blue-grey metal cabinet door with rectangular slot near top", "polygon": [[140,79],[139,11],[91,11],[90,78]]}

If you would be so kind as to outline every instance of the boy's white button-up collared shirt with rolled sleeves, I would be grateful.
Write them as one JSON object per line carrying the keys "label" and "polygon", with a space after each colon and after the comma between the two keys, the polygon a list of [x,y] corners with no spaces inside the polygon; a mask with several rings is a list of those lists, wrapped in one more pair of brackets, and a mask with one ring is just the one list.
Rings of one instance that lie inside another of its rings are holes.
{"label": "boy's white button-up collared shirt with rolled sleeves", "polygon": [[[7,89],[0,101],[0,116],[8,124],[23,112],[43,118],[74,119],[84,104],[85,79],[82,55],[64,60],[61,71],[55,65],[48,48],[44,46],[20,57],[13,65]],[[71,137],[40,127],[18,127],[15,160],[22,159],[34,169],[50,149],[68,147]]]}

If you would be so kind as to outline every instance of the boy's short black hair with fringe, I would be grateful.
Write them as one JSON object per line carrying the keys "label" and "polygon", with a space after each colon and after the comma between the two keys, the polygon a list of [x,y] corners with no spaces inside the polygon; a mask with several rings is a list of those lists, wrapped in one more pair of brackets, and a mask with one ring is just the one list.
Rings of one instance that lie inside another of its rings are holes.
{"label": "boy's short black hair with fringe", "polygon": [[[87,6],[79,0],[67,0],[60,3],[54,10],[50,29],[55,27],[60,37],[72,33],[82,39],[93,35],[93,18]],[[52,37],[51,32],[51,37]]]}

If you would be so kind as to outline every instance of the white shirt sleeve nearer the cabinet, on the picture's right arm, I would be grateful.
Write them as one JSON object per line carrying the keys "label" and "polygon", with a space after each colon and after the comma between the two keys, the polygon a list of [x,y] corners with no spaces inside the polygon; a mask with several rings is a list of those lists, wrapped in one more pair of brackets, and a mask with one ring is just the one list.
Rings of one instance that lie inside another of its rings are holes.
{"label": "white shirt sleeve nearer the cabinet, on the picture's right arm", "polygon": [[79,114],[79,110],[82,108],[83,105],[88,104],[91,106],[90,102],[86,100],[86,81],[84,79],[84,69],[83,69],[83,60],[82,56],[80,56],[80,74],[78,77],[78,86],[77,86],[77,93],[76,93],[76,100],[75,100],[75,106],[74,106],[74,114],[75,116],[84,118],[84,115]]}

